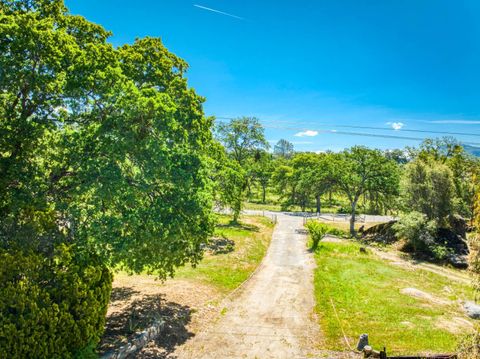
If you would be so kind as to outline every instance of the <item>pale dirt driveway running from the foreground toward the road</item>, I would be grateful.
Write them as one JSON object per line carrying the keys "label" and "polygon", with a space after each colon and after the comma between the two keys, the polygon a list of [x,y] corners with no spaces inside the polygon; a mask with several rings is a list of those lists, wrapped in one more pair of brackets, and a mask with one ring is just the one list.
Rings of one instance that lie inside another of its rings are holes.
{"label": "pale dirt driveway running from the foreground toward the road", "polygon": [[234,293],[222,315],[177,353],[178,358],[305,358],[319,342],[313,307],[314,260],[302,218],[277,215],[262,264]]}

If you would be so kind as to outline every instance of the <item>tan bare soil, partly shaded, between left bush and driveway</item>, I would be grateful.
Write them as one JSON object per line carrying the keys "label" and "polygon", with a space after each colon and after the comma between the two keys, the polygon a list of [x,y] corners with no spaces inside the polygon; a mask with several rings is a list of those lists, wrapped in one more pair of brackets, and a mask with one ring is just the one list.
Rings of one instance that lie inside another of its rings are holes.
{"label": "tan bare soil, partly shaded, between left bush and driveway", "polygon": [[117,274],[100,352],[126,344],[136,332],[161,319],[166,325],[160,338],[135,357],[172,357],[200,326],[215,318],[217,308],[212,303],[221,297],[216,288],[190,280],[162,283],[152,276]]}

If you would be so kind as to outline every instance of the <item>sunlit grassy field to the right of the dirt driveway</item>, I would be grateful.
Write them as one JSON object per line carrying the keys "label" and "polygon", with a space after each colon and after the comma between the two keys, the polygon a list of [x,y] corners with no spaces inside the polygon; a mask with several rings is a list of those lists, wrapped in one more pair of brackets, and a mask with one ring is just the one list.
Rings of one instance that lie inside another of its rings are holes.
{"label": "sunlit grassy field to the right of the dirt driveway", "polygon": [[[451,352],[471,330],[456,302],[473,296],[468,285],[360,253],[353,242],[321,243],[315,259],[316,310],[327,349],[346,349],[341,327],[352,347],[368,333],[374,348],[386,346],[390,354]],[[405,288],[431,297],[402,294]]]}

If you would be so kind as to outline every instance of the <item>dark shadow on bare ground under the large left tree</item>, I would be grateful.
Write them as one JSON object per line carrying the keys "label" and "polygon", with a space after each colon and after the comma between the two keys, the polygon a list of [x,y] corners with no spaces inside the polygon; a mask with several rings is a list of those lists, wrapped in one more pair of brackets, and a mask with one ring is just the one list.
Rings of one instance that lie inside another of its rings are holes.
{"label": "dark shadow on bare ground under the large left tree", "polygon": [[[121,288],[117,292],[135,292]],[[130,295],[131,297],[131,295]],[[98,347],[102,355],[131,342],[137,333],[150,327],[155,321],[164,321],[164,330],[147,348],[135,358],[172,358],[178,345],[185,343],[194,334],[186,328],[191,321],[192,310],[188,306],[165,300],[164,295],[145,295],[134,300],[107,317],[105,333]]]}

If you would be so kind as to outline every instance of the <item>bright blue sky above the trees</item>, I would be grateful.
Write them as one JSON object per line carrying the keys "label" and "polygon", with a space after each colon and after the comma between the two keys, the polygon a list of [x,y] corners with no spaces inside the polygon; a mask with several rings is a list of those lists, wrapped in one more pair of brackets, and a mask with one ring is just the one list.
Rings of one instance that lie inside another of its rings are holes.
{"label": "bright blue sky above the trees", "polygon": [[161,37],[190,64],[189,83],[207,98],[206,114],[256,116],[272,142],[385,149],[418,142],[338,132],[439,136],[409,129],[468,133],[458,138],[480,145],[480,1],[66,4],[111,30],[114,45]]}

